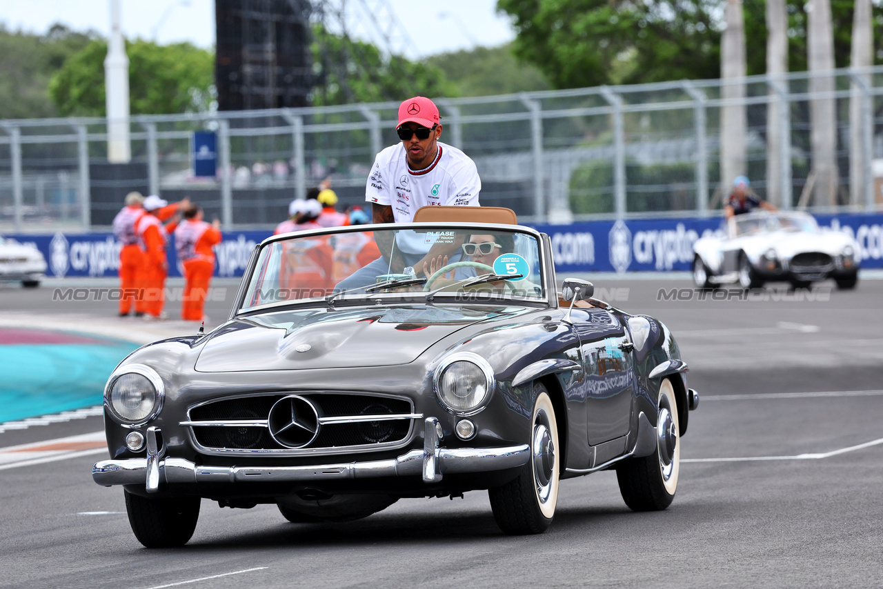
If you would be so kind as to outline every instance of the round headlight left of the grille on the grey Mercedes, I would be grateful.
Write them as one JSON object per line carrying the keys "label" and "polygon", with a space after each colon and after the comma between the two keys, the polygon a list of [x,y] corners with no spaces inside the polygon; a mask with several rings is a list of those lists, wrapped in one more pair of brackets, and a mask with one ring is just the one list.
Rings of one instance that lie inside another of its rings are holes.
{"label": "round headlight left of the grille on the grey Mercedes", "polygon": [[162,379],[150,366],[120,366],[110,375],[104,402],[124,424],[140,425],[162,409]]}

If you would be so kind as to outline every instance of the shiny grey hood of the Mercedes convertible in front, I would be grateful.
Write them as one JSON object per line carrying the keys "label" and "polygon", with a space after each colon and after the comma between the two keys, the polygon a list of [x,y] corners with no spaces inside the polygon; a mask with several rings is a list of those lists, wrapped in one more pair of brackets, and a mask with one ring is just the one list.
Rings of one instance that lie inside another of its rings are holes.
{"label": "shiny grey hood of the Mercedes convertible in front", "polygon": [[524,312],[506,306],[302,309],[230,321],[208,336],[198,372],[396,366],[479,321]]}

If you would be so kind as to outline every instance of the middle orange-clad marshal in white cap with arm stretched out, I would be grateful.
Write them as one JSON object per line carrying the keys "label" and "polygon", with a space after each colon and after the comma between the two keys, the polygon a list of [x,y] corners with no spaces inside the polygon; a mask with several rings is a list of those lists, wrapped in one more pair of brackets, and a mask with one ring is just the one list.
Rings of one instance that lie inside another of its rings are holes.
{"label": "middle orange-clad marshal in white cap with arm stretched out", "polygon": [[169,262],[166,259],[166,236],[177,226],[177,219],[168,226],[162,224],[162,217],[175,215],[178,208],[189,206],[190,200],[185,199],[170,205],[155,194],[151,194],[142,206],[145,214],[135,224],[135,234],[143,253],[139,283],[145,289],[144,319],[165,319],[162,311],[165,305],[165,279],[169,275]]}

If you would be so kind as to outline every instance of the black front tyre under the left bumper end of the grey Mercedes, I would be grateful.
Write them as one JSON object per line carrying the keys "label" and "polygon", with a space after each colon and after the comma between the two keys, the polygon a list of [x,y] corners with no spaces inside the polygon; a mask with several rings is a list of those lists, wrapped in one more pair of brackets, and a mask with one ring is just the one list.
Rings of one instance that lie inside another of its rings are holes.
{"label": "black front tyre under the left bumper end of the grey Mercedes", "polygon": [[148,499],[125,491],[125,510],[135,538],[148,548],[184,546],[200,517],[199,497]]}

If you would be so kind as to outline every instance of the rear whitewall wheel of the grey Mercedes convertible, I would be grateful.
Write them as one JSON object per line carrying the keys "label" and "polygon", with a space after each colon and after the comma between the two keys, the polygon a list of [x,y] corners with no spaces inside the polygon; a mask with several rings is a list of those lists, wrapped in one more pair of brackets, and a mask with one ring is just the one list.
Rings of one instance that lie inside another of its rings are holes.
{"label": "rear whitewall wheel of the grey Mercedes convertible", "polygon": [[660,386],[656,414],[656,451],[648,457],[631,458],[616,467],[619,491],[630,509],[664,510],[675,499],[681,468],[679,427],[675,389],[666,379]]}

